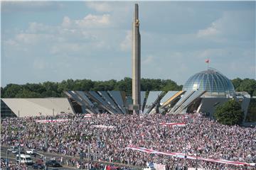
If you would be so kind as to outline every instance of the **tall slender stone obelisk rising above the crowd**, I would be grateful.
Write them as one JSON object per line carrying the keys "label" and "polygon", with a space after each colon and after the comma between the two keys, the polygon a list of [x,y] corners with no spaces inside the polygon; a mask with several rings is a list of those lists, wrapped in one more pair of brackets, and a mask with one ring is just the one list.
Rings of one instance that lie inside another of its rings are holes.
{"label": "tall slender stone obelisk rising above the crowd", "polygon": [[134,111],[140,109],[141,39],[139,34],[139,6],[135,4],[132,23],[132,101]]}

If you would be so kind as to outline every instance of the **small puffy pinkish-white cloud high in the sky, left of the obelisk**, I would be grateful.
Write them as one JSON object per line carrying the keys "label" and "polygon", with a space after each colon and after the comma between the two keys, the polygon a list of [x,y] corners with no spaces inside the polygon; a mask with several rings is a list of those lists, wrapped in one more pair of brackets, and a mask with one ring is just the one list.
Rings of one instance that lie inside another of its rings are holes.
{"label": "small puffy pinkish-white cloud high in the sky, left of the obelisk", "polygon": [[103,14],[102,16],[95,16],[92,14],[88,14],[82,20],[75,20],[75,24],[80,28],[92,28],[99,26],[108,26],[110,24],[110,15]]}

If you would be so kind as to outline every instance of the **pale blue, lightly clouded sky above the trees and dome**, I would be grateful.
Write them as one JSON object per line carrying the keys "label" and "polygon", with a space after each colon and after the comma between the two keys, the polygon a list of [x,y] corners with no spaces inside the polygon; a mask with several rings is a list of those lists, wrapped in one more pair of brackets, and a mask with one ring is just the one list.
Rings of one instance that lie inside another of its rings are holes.
{"label": "pale blue, lightly clouded sky above the trees and dome", "polygon": [[[133,1],[2,1],[1,86],[132,77]],[[142,77],[256,79],[255,1],[139,1]]]}

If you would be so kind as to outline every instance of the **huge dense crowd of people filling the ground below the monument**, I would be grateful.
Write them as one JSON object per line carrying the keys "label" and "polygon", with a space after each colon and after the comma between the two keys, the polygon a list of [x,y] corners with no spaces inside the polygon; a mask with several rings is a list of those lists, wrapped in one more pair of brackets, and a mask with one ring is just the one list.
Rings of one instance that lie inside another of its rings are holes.
{"label": "huge dense crowd of people filling the ground below the monument", "polygon": [[[68,119],[64,122],[37,123],[36,120]],[[161,123],[186,123],[170,127]],[[109,128],[108,128],[109,127]],[[250,169],[163,154],[148,154],[128,146],[188,156],[256,162],[256,128],[221,125],[200,113],[186,115],[56,115],[53,117],[6,118],[1,120],[1,145],[21,145],[83,159],[146,166],[165,164],[166,169]]]}

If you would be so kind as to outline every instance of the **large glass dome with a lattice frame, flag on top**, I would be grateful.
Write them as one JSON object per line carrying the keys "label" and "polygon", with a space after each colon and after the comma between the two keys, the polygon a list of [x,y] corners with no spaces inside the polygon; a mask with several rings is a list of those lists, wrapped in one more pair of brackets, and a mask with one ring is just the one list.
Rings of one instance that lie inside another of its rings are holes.
{"label": "large glass dome with a lattice frame, flag on top", "polygon": [[234,86],[230,79],[210,68],[206,71],[199,72],[186,81],[183,91],[207,91],[208,95],[233,95]]}

